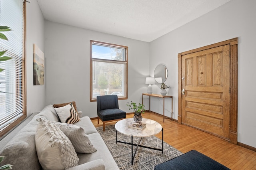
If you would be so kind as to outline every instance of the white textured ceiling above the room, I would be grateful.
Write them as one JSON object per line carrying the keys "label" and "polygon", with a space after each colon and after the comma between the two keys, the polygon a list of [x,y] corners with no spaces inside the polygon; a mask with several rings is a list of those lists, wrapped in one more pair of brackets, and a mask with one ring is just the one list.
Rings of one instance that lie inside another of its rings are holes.
{"label": "white textured ceiling above the room", "polygon": [[46,20],[151,42],[231,0],[37,0]]}

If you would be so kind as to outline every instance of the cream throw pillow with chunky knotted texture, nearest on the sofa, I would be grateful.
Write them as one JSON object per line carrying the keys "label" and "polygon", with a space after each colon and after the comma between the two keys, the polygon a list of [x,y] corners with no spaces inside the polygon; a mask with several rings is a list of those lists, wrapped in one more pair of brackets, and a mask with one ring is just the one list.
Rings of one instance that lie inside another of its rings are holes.
{"label": "cream throw pillow with chunky knotted texture, nearest on the sofa", "polygon": [[78,165],[79,158],[72,143],[60,128],[39,118],[36,128],[36,152],[44,170],[64,170]]}

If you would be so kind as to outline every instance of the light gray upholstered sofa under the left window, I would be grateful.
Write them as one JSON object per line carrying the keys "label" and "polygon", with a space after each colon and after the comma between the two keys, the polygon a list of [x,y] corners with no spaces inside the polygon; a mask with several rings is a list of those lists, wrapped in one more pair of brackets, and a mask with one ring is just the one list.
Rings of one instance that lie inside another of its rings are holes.
{"label": "light gray upholstered sofa under the left window", "polygon": [[[81,112],[78,114],[81,121],[74,123],[74,125],[84,128],[97,151],[91,154],[77,153],[79,158],[78,166],[69,168],[68,170],[119,170],[104,140],[92,124],[90,118],[87,116],[82,117]],[[0,156],[5,156],[1,165],[12,164],[14,165],[12,166],[14,170],[42,169],[37,157],[35,145],[35,133],[38,125],[36,119],[38,118],[44,118],[49,121],[59,121],[54,107],[52,105],[46,106],[4,147],[1,146]]]}

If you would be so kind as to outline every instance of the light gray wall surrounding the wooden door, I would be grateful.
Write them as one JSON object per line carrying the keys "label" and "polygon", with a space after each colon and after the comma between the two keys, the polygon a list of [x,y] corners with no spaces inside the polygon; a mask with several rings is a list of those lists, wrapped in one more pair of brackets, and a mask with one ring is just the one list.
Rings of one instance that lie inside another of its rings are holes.
{"label": "light gray wall surrounding the wooden door", "polygon": [[238,142],[252,147],[256,147],[255,11],[255,0],[232,0],[150,42],[150,74],[158,63],[167,66],[168,95],[174,96],[178,119],[178,53],[238,37]]}

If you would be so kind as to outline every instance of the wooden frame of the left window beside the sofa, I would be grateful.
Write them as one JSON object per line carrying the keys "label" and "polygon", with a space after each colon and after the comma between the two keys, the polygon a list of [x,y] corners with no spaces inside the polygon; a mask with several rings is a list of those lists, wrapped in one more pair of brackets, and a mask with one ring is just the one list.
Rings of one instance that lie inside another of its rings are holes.
{"label": "wooden frame of the left window beside the sofa", "polygon": [[[23,54],[22,54],[22,85],[21,93],[23,94],[23,115],[16,119],[14,122],[6,125],[2,129],[0,129],[0,140],[4,138],[6,134],[11,132],[13,128],[15,128],[18,124],[20,124],[27,117],[27,109],[26,109],[26,0],[23,1]],[[17,81],[15,82],[17,83]]]}

